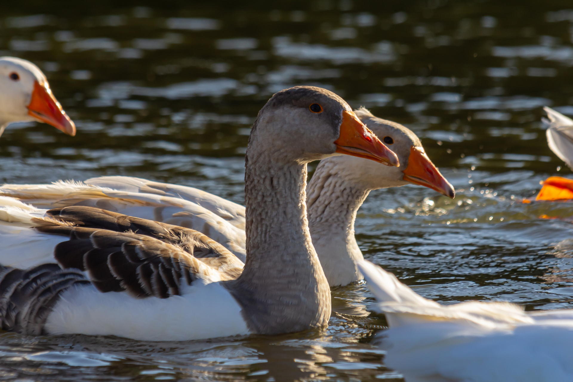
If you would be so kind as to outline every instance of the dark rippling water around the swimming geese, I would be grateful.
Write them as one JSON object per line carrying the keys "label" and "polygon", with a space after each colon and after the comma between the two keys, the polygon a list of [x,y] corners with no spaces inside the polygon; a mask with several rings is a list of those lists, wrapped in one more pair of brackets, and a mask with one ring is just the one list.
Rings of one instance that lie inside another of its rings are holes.
{"label": "dark rippling water around the swimming geese", "polygon": [[[12,125],[0,180],[135,175],[241,203],[249,128],[270,95],[324,86],[422,137],[457,190],[374,191],[366,258],[425,297],[573,308],[570,203],[523,204],[549,175],[544,105],[573,114],[569,2],[430,0],[0,5],[0,54],[36,62],[76,137]],[[560,169],[559,169],[560,167]],[[559,217],[542,219],[541,215]],[[152,343],[0,334],[0,379],[400,381],[364,283],[333,291],[324,332]]]}

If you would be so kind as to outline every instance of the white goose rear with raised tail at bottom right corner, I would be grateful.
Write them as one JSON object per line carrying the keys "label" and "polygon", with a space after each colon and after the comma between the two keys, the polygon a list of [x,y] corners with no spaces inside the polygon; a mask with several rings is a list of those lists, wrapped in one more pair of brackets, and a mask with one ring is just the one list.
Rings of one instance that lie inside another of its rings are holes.
{"label": "white goose rear with raised tail at bottom right corner", "polygon": [[570,382],[573,309],[524,312],[507,302],[440,305],[366,260],[357,263],[388,330],[384,364],[406,382]]}

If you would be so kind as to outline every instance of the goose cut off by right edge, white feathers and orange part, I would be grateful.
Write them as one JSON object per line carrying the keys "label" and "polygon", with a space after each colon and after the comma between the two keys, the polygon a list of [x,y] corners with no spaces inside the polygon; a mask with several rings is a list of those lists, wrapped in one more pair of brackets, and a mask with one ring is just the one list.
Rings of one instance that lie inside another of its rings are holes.
{"label": "goose cut off by right edge, white feathers and orange part", "polygon": [[[544,107],[548,120],[543,118],[547,127],[547,144],[551,151],[563,160],[573,170],[573,120],[556,112],[554,109]],[[562,176],[550,176],[543,182],[543,187],[535,200],[567,200],[573,199],[573,179]],[[529,202],[527,199],[525,202]]]}

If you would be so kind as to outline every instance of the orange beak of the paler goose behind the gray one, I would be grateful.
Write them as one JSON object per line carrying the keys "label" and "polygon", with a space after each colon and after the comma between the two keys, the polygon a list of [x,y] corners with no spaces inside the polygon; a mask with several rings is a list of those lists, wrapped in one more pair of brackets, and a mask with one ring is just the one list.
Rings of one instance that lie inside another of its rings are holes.
{"label": "orange beak of the paler goose behind the gray one", "polygon": [[426,153],[418,147],[410,149],[408,166],[404,170],[403,179],[420,186],[429,187],[452,199],[456,196],[456,191],[454,191],[452,184],[439,173],[439,170],[431,163]]}

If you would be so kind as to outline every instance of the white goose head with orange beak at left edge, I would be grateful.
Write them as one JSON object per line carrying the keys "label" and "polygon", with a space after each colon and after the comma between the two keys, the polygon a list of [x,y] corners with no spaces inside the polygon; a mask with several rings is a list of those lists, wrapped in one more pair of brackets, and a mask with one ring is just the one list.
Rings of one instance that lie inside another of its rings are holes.
{"label": "white goose head with orange beak at left edge", "polygon": [[20,121],[40,121],[76,135],[76,126],[38,66],[21,58],[0,57],[0,134],[6,125]]}

